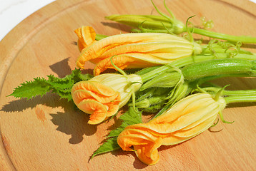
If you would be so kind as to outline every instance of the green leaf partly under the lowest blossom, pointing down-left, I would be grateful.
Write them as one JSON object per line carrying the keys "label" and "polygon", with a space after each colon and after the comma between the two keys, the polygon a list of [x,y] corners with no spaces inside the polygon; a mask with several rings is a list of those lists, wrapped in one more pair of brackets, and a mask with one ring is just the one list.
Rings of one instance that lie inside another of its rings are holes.
{"label": "green leaf partly under the lowest blossom, pointing down-left", "polygon": [[100,155],[106,152],[112,152],[114,150],[120,149],[117,144],[118,135],[126,128],[128,125],[134,125],[137,123],[142,123],[142,113],[134,110],[133,107],[129,107],[126,113],[120,116],[122,120],[122,125],[115,130],[111,130],[107,136],[107,140],[93,153],[92,158],[96,155]]}

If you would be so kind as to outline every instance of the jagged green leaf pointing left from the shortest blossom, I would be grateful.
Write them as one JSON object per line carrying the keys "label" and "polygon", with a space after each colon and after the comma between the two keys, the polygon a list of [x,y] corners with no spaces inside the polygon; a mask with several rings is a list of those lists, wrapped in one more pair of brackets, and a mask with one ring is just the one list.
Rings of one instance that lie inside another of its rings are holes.
{"label": "jagged green leaf pointing left from the shortest blossom", "polygon": [[53,75],[45,78],[34,78],[34,81],[26,81],[21,83],[21,86],[14,88],[13,95],[15,98],[31,99],[37,95],[45,95],[49,91],[56,93],[60,98],[72,100],[71,90],[74,83],[79,81],[87,81],[92,78],[90,74],[82,74],[80,69],[74,69],[71,74],[64,78],[57,78]]}

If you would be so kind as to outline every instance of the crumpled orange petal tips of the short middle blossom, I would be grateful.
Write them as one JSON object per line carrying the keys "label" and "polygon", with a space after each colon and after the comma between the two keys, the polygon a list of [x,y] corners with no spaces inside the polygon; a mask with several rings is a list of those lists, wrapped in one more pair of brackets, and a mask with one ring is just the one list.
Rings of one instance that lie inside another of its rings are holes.
{"label": "crumpled orange petal tips of the short middle blossom", "polygon": [[80,81],[72,88],[77,107],[92,114],[89,124],[98,124],[119,110],[120,93],[97,81]]}

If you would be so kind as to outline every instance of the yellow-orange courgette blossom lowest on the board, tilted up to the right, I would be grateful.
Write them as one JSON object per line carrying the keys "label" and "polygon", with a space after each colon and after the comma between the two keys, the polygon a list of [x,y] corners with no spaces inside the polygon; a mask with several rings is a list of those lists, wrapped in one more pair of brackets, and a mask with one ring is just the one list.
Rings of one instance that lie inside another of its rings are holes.
{"label": "yellow-orange courgette blossom lowest on the board, tilted up to the right", "polygon": [[133,146],[139,160],[154,165],[159,161],[158,147],[184,142],[207,130],[225,105],[222,97],[215,100],[207,93],[189,95],[148,123],[127,126],[117,142],[122,150],[131,151]]}

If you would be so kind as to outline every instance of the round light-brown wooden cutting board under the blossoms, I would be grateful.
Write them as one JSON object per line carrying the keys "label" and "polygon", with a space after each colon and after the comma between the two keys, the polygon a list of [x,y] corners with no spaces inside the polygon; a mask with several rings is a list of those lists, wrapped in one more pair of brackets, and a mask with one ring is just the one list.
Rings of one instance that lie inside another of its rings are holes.
{"label": "round light-brown wooden cutting board under the blossoms", "polygon": [[[155,4],[165,11],[162,1]],[[169,0],[167,5],[181,21],[196,15],[191,21],[197,25],[205,16],[215,22],[213,31],[256,36],[256,4],[250,1]],[[105,35],[129,31],[104,20],[112,14],[157,12],[149,0],[57,0],[22,21],[0,42],[0,170],[255,170],[255,103],[227,106],[225,119],[234,123],[219,123],[192,140],[162,146],[157,165],[147,166],[134,152],[122,150],[90,160],[114,120],[87,125],[89,115],[77,113],[57,95],[33,100],[6,97],[24,81],[69,74],[79,55],[74,33],[79,26],[93,26]],[[87,71],[90,68],[88,64]],[[255,78],[219,82],[236,89],[256,85]]]}

